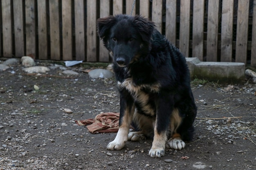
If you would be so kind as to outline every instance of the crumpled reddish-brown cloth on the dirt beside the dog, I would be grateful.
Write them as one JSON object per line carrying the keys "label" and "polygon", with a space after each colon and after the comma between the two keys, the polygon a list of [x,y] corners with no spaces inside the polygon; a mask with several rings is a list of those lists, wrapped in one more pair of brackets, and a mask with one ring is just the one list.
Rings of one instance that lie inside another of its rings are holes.
{"label": "crumpled reddish-brown cloth on the dirt beside the dog", "polygon": [[94,119],[75,120],[76,124],[86,126],[91,133],[110,133],[118,131],[119,113],[100,113]]}

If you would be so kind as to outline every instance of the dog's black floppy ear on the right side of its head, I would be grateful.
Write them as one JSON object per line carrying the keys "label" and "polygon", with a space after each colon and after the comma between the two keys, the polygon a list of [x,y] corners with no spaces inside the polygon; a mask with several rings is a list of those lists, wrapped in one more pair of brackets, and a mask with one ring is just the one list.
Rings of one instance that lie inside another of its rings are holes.
{"label": "dog's black floppy ear on the right side of its head", "polygon": [[141,15],[135,16],[134,24],[137,27],[142,40],[149,43],[155,28],[155,24],[152,21],[142,17]]}

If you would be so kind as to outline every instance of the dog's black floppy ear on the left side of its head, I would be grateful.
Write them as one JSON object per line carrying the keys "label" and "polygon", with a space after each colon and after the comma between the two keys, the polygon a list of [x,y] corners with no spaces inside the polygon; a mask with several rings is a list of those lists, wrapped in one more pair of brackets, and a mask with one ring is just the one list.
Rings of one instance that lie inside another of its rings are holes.
{"label": "dog's black floppy ear on the left side of its head", "polygon": [[103,40],[109,35],[110,28],[115,24],[116,18],[112,15],[97,20],[97,32]]}

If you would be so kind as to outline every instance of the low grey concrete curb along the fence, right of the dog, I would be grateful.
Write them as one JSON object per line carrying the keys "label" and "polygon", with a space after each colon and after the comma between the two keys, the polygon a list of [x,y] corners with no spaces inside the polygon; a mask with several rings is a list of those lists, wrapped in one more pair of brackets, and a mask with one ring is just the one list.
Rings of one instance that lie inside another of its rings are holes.
{"label": "low grey concrete curb along the fence, right of the dog", "polygon": [[240,62],[200,62],[196,57],[186,58],[190,77],[220,83],[245,80],[245,64]]}

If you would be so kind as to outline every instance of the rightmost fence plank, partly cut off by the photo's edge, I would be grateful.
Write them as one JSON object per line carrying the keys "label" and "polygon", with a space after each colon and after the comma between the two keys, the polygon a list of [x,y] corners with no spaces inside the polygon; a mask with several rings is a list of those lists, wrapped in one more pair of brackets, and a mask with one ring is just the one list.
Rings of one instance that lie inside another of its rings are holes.
{"label": "rightmost fence plank, partly cut off by the photo's edge", "polygon": [[251,55],[251,65],[256,66],[256,0],[253,1],[253,17],[252,17],[252,55]]}

